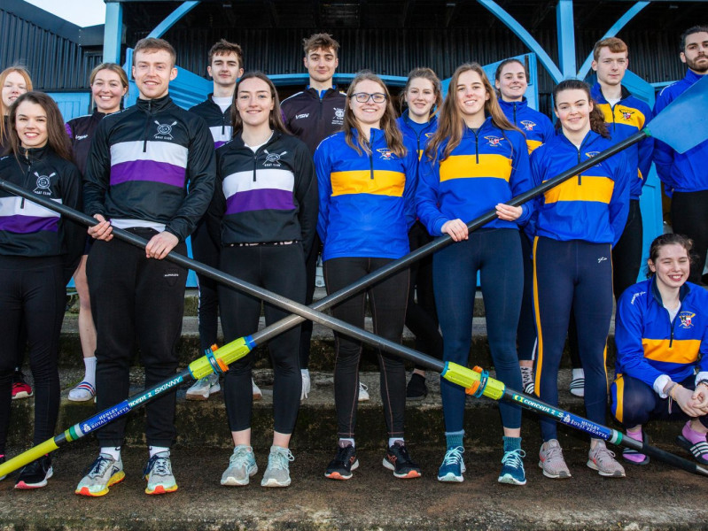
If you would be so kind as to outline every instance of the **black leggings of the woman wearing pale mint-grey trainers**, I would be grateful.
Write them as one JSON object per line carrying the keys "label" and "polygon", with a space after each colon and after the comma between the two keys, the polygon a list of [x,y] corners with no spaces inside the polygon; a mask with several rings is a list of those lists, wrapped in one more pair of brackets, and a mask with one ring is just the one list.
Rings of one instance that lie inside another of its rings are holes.
{"label": "black leggings of the woman wearing pale mint-grey trainers", "polygon": [[[221,270],[239,279],[292,299],[305,302],[305,257],[300,243],[255,245],[222,249]],[[230,342],[258,330],[261,299],[233,288],[219,286],[224,341]],[[265,304],[266,325],[290,313]],[[300,327],[294,327],[268,342],[273,361],[273,416],[276,432],[292,434],[300,410]],[[253,352],[231,364],[224,377],[224,402],[231,431],[251,427]]]}

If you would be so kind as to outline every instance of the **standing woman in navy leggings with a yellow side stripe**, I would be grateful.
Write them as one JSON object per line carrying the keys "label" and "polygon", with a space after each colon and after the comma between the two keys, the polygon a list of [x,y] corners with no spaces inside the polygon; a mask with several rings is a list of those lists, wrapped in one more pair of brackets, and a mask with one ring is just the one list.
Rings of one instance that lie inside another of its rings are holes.
{"label": "standing woman in navy leggings with a yellow side stripe", "polygon": [[[561,131],[533,151],[533,184],[555,177],[611,147],[602,112],[590,87],[563,81],[553,91]],[[611,248],[625,227],[630,170],[619,153],[577,177],[550,189],[536,200],[533,241],[533,304],[538,333],[535,393],[558,403],[558,367],[575,314],[580,360],[585,370],[587,418],[604,424],[607,404],[605,343],[612,316]],[[556,437],[556,422],[541,419],[540,466],[550,478],[571,476]],[[603,476],[625,471],[601,439],[591,439],[587,466]]]}

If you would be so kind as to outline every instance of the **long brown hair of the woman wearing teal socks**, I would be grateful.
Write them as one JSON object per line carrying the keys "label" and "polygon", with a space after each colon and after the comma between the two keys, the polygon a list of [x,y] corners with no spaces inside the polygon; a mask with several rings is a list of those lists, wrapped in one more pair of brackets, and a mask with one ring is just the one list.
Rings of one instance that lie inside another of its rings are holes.
{"label": "long brown hair of the woman wearing teal socks", "polygon": [[518,127],[515,127],[504,115],[502,107],[499,106],[499,101],[496,99],[496,92],[494,91],[492,84],[487,79],[486,73],[482,70],[482,67],[478,63],[465,63],[464,65],[459,65],[457,70],[455,70],[455,73],[453,73],[452,78],[450,78],[447,96],[445,96],[445,100],[442,102],[442,107],[440,108],[438,130],[434,135],[432,135],[430,142],[428,142],[428,147],[425,149],[425,154],[431,160],[435,160],[440,146],[446,140],[447,145],[442,151],[442,157],[440,160],[445,160],[449,157],[452,150],[454,150],[458,145],[460,145],[460,142],[462,142],[465,125],[462,113],[457,105],[456,87],[458,81],[460,80],[460,76],[463,73],[470,71],[478,73],[479,78],[482,80],[482,84],[485,87],[486,93],[489,95],[489,99],[485,102],[485,116],[491,117],[494,126],[502,129],[502,132],[521,132]]}

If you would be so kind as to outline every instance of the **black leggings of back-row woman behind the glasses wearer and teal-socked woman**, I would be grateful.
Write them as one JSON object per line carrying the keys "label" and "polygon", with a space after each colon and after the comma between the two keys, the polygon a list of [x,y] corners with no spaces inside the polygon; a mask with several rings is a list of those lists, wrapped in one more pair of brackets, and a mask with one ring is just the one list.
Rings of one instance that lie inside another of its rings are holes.
{"label": "black leggings of back-row woman behind the glasses wearer and teal-socked woman", "polygon": [[[413,252],[432,242],[432,236],[420,221],[416,221],[408,231],[408,242]],[[435,292],[432,290],[432,256],[418,260],[410,266],[406,326],[416,335],[416,350],[442,359],[442,335],[438,331]],[[416,369],[423,367],[416,366]]]}

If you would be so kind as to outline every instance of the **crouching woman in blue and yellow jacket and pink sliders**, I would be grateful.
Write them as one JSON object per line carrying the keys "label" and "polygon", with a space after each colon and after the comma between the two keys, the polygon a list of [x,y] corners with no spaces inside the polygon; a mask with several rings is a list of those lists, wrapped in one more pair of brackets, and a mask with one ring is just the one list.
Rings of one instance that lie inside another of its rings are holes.
{"label": "crouching woman in blue and yellow jacket and pink sliders", "polygon": [[[706,465],[708,293],[687,281],[692,245],[683,235],[658,236],[649,251],[649,280],[619,298],[611,407],[626,435],[638,441],[646,438],[642,426],[650,419],[687,420],[678,443]],[[649,463],[636,450],[622,455]]]}

